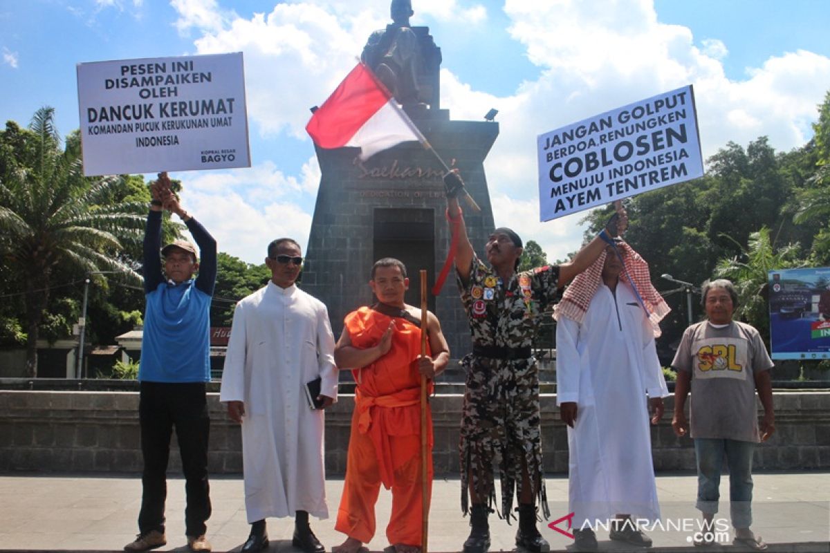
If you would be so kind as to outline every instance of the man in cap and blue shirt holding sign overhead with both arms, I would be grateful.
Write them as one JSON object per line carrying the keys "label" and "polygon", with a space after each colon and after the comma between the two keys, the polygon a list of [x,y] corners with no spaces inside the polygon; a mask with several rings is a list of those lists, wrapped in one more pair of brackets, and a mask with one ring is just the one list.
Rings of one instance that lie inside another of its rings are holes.
{"label": "man in cap and blue shirt holding sign overhead with both arms", "polygon": [[[153,201],[144,235],[144,337],[139,366],[141,453],[144,472],[139,535],[125,551],[164,546],[164,500],[170,437],[176,428],[187,491],[185,534],[191,551],[211,551],[205,521],[211,515],[207,483],[205,383],[210,381],[210,304],[216,281],[216,240],[179,205],[167,173],[151,186]],[[161,245],[162,210],[175,213],[199,247],[187,240]],[[193,274],[198,271],[198,277]]]}

